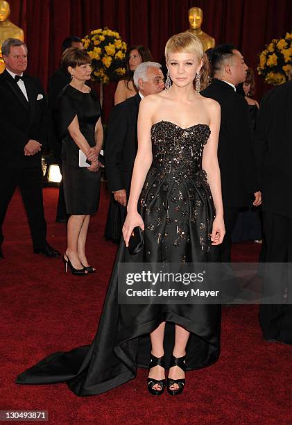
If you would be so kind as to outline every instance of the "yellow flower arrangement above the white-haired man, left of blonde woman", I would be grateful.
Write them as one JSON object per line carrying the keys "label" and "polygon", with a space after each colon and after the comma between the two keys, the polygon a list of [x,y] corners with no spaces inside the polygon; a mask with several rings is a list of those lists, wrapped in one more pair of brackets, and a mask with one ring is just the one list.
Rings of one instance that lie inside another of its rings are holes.
{"label": "yellow flower arrangement above the white-haired man, left of blonde woman", "polygon": [[117,31],[98,28],[83,38],[83,45],[92,58],[92,80],[108,84],[119,80],[125,73],[123,60],[127,44]]}

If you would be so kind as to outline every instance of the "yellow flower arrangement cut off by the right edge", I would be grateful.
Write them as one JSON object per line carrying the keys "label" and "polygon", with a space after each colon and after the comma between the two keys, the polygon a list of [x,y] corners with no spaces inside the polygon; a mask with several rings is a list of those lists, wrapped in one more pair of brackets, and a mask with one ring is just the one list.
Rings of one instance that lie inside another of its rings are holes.
{"label": "yellow flower arrangement cut off by the right edge", "polygon": [[264,76],[266,83],[279,85],[285,83],[292,69],[292,33],[284,38],[273,39],[259,53],[257,72]]}

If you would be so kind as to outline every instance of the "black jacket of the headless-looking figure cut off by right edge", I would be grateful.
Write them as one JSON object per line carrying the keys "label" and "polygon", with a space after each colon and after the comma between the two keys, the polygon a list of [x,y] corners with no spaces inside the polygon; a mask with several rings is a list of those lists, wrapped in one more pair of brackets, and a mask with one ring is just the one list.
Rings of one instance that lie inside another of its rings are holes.
{"label": "black jacket of the headless-looking figure cut off by right edge", "polygon": [[292,217],[292,81],[269,90],[261,99],[255,154],[262,209]]}

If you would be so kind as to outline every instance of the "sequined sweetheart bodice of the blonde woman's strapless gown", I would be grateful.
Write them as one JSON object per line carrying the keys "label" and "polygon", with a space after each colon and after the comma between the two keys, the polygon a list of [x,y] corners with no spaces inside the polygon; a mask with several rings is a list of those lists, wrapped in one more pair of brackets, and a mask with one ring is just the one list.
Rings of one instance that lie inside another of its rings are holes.
{"label": "sequined sweetheart bodice of the blonde woman's strapless gown", "polygon": [[207,124],[189,128],[168,121],[160,121],[151,128],[152,166],[160,174],[187,178],[202,171],[202,153],[211,131]]}

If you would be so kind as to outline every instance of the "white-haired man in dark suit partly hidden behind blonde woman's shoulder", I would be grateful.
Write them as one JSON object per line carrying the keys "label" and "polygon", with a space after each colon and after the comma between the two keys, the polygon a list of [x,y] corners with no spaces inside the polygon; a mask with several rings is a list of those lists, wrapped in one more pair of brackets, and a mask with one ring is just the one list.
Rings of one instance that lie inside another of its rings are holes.
{"label": "white-haired man in dark suit partly hidden behind blonde woman's shoulder", "polygon": [[114,199],[119,203],[122,225],[126,218],[132,169],[137,153],[139,103],[143,97],[164,90],[164,76],[159,63],[141,63],[135,69],[133,78],[138,93],[112,109],[105,144],[108,185],[114,193]]}

